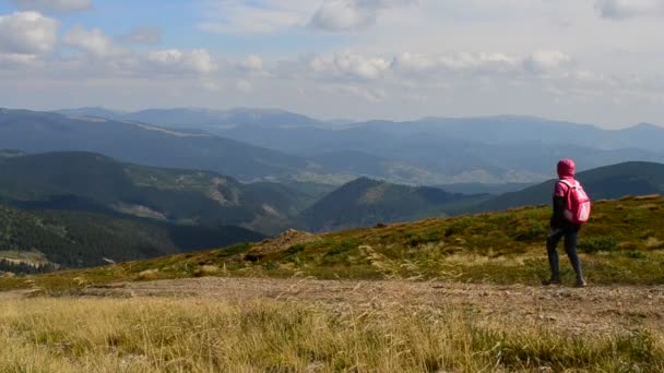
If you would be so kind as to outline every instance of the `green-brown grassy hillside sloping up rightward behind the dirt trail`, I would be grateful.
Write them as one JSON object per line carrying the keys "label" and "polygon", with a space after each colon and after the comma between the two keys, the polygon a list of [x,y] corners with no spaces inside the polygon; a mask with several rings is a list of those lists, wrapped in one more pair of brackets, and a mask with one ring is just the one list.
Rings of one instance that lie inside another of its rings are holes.
{"label": "green-brown grassy hillside sloping up rightward behind the dirt trail", "polygon": [[[429,219],[313,236],[287,232],[257,244],[143,262],[2,279],[1,287],[85,284],[192,276],[414,278],[537,285],[548,275],[548,207]],[[579,250],[592,284],[664,284],[664,198],[597,202]],[[565,261],[565,256],[561,256]],[[572,281],[569,265],[564,276]]]}

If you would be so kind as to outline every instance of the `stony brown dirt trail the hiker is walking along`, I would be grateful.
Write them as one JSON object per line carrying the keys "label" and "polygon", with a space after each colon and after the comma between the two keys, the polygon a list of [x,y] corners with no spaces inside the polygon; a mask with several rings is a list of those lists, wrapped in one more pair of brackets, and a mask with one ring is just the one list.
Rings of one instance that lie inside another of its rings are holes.
{"label": "stony brown dirt trail the hiker is walking along", "polygon": [[525,287],[451,282],[194,278],[87,288],[84,296],[297,299],[339,308],[455,305],[482,318],[547,324],[569,333],[664,333],[664,287]]}

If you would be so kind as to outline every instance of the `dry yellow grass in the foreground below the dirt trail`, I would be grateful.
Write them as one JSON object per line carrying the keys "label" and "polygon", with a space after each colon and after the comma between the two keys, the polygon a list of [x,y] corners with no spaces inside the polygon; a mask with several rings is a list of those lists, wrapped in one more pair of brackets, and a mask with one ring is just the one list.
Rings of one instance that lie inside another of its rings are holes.
{"label": "dry yellow grass in the foreground below the dirt trail", "polygon": [[664,336],[653,330],[573,336],[406,304],[11,300],[0,304],[0,371],[664,370]]}

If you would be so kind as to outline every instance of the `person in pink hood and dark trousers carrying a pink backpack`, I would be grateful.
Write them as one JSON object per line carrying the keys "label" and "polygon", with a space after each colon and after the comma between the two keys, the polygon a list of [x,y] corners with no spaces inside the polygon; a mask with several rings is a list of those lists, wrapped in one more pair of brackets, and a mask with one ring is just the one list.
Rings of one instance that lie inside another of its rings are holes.
{"label": "person in pink hood and dark trousers carrying a pink backpack", "polygon": [[577,273],[576,286],[584,288],[588,282],[583,278],[581,261],[577,254],[577,237],[581,225],[588,221],[590,215],[590,198],[583,192],[581,183],[574,180],[576,165],[571,159],[558,161],[558,181],[554,188],[554,215],[550,219],[550,232],[546,239],[546,252],[552,269],[552,277],[544,285],[560,284],[560,266],[558,262],[558,242],[565,238],[565,251]]}

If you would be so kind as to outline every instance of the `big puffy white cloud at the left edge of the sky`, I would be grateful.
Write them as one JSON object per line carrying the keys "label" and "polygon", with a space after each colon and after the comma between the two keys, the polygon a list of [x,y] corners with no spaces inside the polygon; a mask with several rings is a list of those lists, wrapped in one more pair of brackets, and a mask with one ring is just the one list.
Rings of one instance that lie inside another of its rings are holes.
{"label": "big puffy white cloud at the left edge of the sky", "polygon": [[0,16],[0,52],[49,52],[56,45],[58,26],[58,21],[37,12],[15,12]]}

